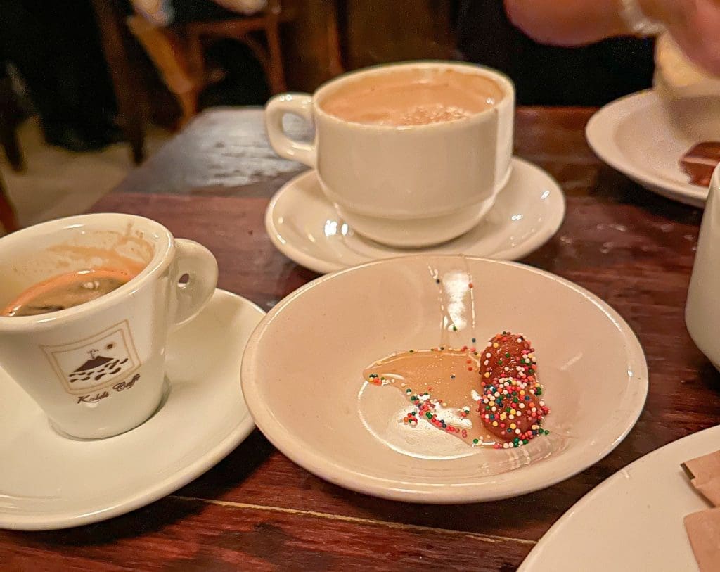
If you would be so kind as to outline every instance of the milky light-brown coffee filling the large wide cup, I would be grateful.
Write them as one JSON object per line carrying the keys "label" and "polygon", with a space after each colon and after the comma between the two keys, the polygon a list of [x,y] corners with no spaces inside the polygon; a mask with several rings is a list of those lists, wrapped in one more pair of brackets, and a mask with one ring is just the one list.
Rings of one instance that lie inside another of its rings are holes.
{"label": "milky light-brown coffee filling the large wide cup", "polygon": [[503,90],[478,73],[404,69],[366,76],[333,91],[320,107],[366,125],[426,125],[470,117],[494,107]]}

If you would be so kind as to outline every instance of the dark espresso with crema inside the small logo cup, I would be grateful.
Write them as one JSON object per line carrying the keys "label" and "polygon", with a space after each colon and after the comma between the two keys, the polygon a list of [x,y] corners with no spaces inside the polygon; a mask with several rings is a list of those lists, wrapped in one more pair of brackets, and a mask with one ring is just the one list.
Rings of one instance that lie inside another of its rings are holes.
{"label": "dark espresso with crema inside the small logo cup", "polygon": [[24,290],[0,315],[37,316],[73,308],[117,290],[134,276],[132,272],[114,268],[59,274]]}

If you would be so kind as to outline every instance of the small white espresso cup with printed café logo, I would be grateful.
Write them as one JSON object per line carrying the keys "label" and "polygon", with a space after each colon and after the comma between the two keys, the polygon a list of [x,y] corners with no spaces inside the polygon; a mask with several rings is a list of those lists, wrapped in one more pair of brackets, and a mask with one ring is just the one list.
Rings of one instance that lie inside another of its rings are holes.
{"label": "small white espresso cup with printed caf\u00e9 logo", "polygon": [[0,316],[0,367],[71,437],[120,434],[156,411],[168,331],[210,300],[217,262],[204,246],[132,215],[53,220],[0,239],[2,307],[55,275],[128,261],[142,271],[96,300]]}

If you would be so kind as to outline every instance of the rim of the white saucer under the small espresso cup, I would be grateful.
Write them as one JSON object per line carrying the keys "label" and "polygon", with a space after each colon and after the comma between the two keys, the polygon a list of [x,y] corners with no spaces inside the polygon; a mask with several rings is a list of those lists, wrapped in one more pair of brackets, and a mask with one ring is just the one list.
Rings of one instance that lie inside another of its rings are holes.
{"label": "rim of the white saucer under the small espresso cup", "polygon": [[[251,300],[235,294],[234,292],[216,288],[213,297],[215,296],[233,300],[234,303],[238,304],[238,308],[247,307],[257,311],[260,316],[258,323],[262,321],[266,315],[266,312],[256,303],[251,302]],[[251,336],[256,327],[257,324],[252,327],[250,332]],[[238,372],[240,372],[239,365],[240,362],[238,360]],[[148,486],[142,493],[125,493],[125,497],[127,499],[126,501],[116,501],[112,506],[108,506],[106,509],[102,510],[88,511],[88,509],[83,509],[81,514],[78,514],[78,511],[58,511],[54,514],[40,514],[37,512],[30,515],[17,513],[7,514],[0,508],[0,529],[22,531],[65,529],[82,526],[84,524],[102,522],[113,517],[119,517],[122,514],[127,514],[128,512],[136,509],[140,509],[143,506],[153,503],[154,501],[163,499],[165,496],[174,493],[179,488],[182,488],[186,484],[194,481],[194,479],[198,478],[203,473],[206,473],[207,470],[210,470],[212,467],[217,465],[220,460],[225,458],[235,449],[235,447],[243,442],[248,435],[251,434],[254,428],[255,423],[253,421],[253,416],[250,414],[250,408],[248,407],[248,415],[239,419],[235,427],[225,434],[225,437],[220,439],[215,446],[210,447],[207,452],[202,455],[202,457],[195,460],[190,465],[187,465],[184,469],[164,479],[160,483]]]}

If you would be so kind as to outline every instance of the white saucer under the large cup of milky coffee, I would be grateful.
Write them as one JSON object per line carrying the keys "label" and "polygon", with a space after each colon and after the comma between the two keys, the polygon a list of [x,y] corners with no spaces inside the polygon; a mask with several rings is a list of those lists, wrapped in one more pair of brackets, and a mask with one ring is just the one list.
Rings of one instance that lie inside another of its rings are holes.
{"label": "white saucer under the large cup of milky coffee", "polygon": [[487,217],[469,233],[440,246],[396,249],[359,236],[325,198],[315,171],[295,177],[276,193],[265,213],[265,228],[285,256],[320,273],[418,252],[521,259],[557,232],[565,197],[538,166],[517,157],[512,166],[510,180]]}

